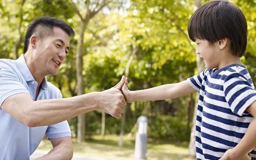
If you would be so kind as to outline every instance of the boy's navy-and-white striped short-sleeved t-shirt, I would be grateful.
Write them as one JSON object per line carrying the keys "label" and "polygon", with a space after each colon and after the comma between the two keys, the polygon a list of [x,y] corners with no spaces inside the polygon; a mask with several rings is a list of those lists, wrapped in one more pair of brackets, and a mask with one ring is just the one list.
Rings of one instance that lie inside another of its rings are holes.
{"label": "boy's navy-and-white striped short-sleeved t-shirt", "polygon": [[[244,65],[231,64],[219,70],[206,69],[188,82],[200,94],[196,158],[218,160],[238,144],[253,119],[246,111],[256,101],[252,79]],[[249,155],[256,157],[256,148]]]}

